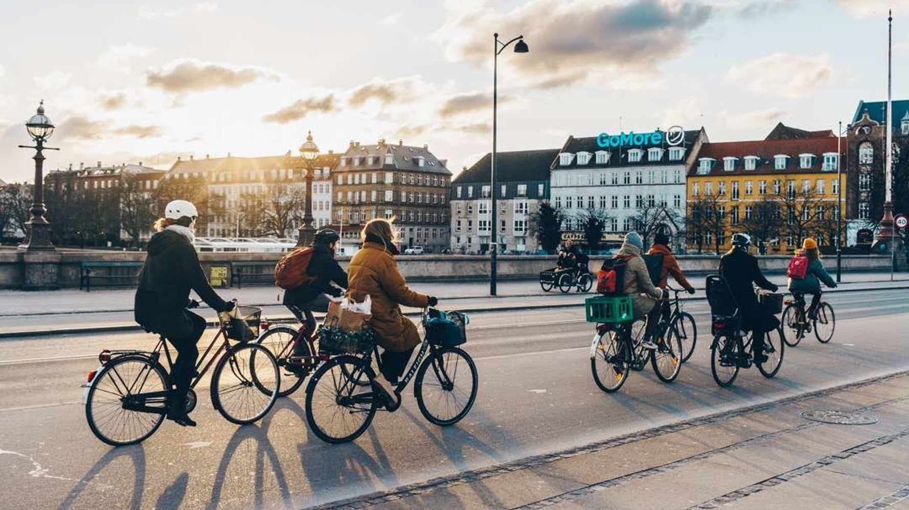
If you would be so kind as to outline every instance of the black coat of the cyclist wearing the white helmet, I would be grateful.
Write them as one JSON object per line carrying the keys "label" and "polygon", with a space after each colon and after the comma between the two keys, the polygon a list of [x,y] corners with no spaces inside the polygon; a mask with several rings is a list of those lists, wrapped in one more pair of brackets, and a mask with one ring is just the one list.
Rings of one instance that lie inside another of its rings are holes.
{"label": "black coat of the cyclist wearing the white helmet", "polygon": [[189,239],[175,230],[155,233],[135,290],[135,321],[166,338],[190,337],[193,322],[186,311],[190,289],[217,311],[230,308],[205,278]]}

